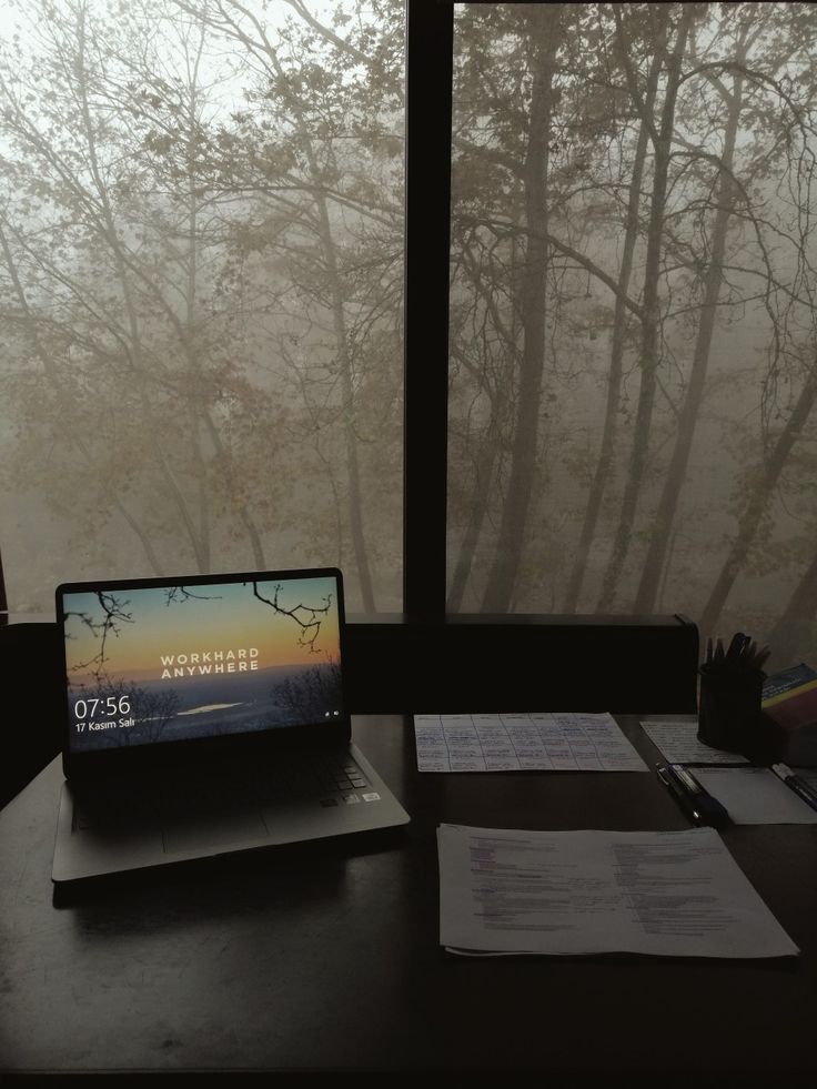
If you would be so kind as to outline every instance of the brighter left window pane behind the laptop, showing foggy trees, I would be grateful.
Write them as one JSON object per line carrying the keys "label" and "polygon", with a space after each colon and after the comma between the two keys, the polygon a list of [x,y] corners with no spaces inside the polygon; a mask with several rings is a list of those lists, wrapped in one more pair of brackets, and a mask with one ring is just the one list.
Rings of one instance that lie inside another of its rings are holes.
{"label": "brighter left window pane behind the laptop, showing foggy trees", "polygon": [[3,0],[2,554],[400,608],[401,2]]}

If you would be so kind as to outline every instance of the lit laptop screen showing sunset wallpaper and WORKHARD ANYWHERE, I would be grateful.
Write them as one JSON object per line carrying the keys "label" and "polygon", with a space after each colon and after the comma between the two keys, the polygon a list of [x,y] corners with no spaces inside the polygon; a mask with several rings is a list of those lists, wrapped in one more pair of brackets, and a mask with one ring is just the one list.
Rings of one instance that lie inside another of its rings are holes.
{"label": "lit laptop screen showing sunset wallpaper and WORKHARD ANYWHERE", "polygon": [[64,584],[57,608],[69,755],[345,719],[335,568]]}

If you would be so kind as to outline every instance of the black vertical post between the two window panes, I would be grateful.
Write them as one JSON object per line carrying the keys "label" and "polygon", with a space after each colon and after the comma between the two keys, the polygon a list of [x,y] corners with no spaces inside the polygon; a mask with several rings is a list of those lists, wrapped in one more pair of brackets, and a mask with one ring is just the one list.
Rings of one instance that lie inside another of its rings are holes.
{"label": "black vertical post between the two window panes", "polygon": [[406,0],[403,612],[446,597],[453,0]]}

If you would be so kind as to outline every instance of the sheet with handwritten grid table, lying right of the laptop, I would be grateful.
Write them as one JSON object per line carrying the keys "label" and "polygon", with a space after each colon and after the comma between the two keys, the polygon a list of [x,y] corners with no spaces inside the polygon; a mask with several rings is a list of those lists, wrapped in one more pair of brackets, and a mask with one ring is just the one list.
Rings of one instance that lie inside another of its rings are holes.
{"label": "sheet with handwritten grid table, lying right of the laptop", "polygon": [[646,772],[612,715],[415,715],[420,772]]}

